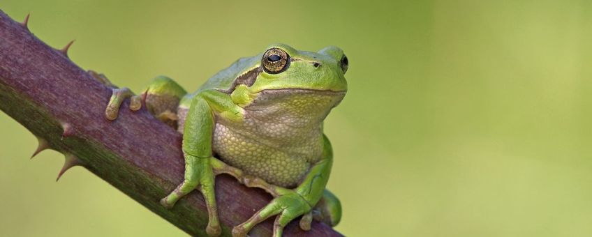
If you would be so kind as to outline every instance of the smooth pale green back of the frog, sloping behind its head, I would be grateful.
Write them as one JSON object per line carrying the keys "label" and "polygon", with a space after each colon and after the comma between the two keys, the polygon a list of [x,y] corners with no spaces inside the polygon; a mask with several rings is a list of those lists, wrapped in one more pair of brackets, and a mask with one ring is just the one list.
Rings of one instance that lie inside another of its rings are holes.
{"label": "smooth pale green back of the frog, sloping behind its head", "polygon": [[219,71],[216,73],[216,75],[207,79],[207,81],[202,84],[202,86],[200,86],[197,91],[185,95],[179,103],[179,107],[188,108],[191,104],[191,98],[201,91],[209,89],[228,91],[231,88],[232,83],[235,82],[235,79],[239,77],[241,73],[249,71],[250,68],[255,68],[258,66],[260,59],[261,54],[238,59],[234,63],[230,64],[228,68]]}

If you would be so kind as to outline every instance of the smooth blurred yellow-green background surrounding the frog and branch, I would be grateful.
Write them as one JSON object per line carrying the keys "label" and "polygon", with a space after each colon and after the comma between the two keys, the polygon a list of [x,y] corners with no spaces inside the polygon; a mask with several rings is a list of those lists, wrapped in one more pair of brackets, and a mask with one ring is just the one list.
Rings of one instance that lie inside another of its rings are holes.
{"label": "smooth blurred yellow-green background surrounding the frog and branch", "polygon": [[[84,69],[196,89],[240,56],[338,45],[325,123],[348,236],[592,236],[591,1],[3,0]],[[0,52],[1,53],[1,52]],[[0,236],[184,236],[0,113]]]}

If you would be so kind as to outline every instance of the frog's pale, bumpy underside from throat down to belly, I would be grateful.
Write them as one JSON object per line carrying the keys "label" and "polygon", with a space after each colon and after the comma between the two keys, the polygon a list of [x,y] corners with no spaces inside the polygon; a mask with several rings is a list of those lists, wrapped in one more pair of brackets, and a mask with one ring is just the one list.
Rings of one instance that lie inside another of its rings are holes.
{"label": "frog's pale, bumpy underside from throat down to belly", "polygon": [[[246,174],[293,188],[320,160],[323,119],[344,95],[302,89],[262,91],[244,107],[244,123],[216,116],[212,149],[219,159]],[[179,123],[186,113],[187,109],[179,109]]]}

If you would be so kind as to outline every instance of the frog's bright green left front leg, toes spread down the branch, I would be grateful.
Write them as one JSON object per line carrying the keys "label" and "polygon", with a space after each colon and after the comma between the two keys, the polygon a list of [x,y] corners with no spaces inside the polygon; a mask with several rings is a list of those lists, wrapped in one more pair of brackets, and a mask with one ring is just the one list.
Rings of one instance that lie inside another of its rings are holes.
{"label": "frog's bright green left front leg, toes spread down the branch", "polygon": [[242,116],[237,115],[242,114],[242,108],[234,105],[227,94],[209,90],[195,95],[184,122],[185,178],[183,183],[161,200],[163,206],[172,207],[189,192],[200,190],[209,215],[206,228],[209,236],[221,234],[214,192],[214,176],[228,173],[239,180],[242,176],[242,171],[225,165],[213,157],[214,113],[225,116],[225,119],[242,119]]}

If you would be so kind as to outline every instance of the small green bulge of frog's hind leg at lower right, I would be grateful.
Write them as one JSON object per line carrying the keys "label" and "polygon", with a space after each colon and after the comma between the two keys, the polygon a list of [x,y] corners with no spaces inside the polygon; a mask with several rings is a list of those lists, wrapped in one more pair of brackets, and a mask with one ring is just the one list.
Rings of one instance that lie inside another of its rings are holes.
{"label": "small green bulge of frog's hind leg at lower right", "polygon": [[332,192],[326,190],[323,192],[323,198],[318,201],[315,208],[314,219],[324,222],[332,227],[339,224],[341,220],[341,202]]}

